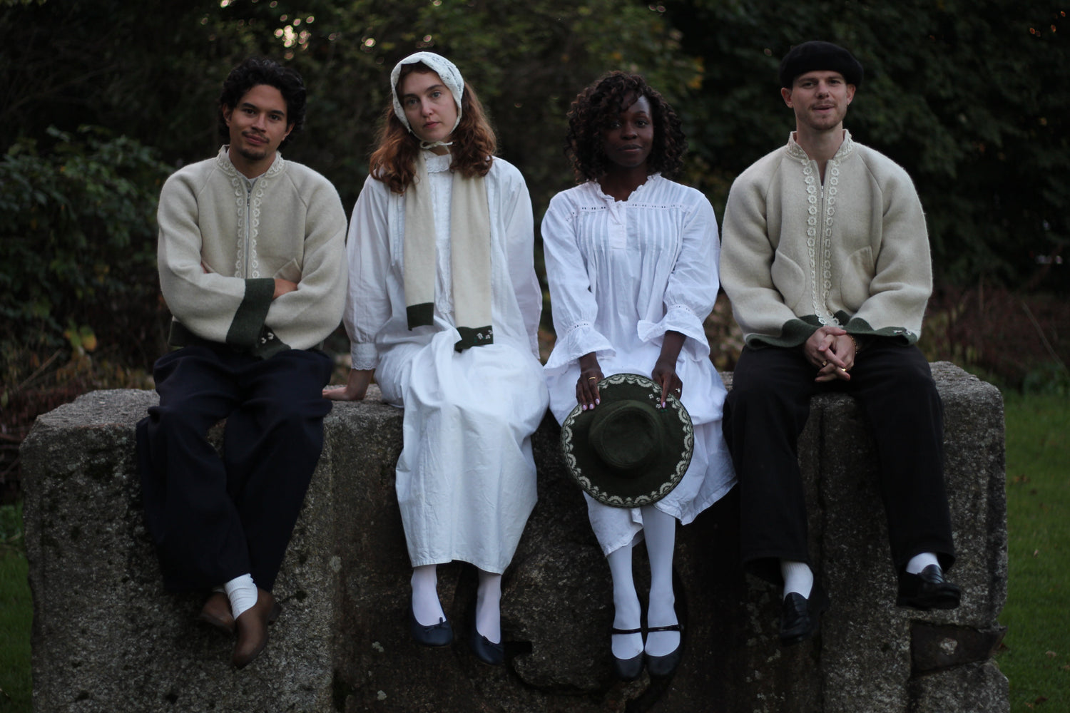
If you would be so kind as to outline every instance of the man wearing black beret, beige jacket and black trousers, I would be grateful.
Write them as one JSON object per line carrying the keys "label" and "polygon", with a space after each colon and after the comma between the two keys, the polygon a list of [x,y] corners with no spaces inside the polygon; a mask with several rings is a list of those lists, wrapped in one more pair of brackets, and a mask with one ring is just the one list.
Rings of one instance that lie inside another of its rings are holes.
{"label": "man wearing black beret, beige jacket and black trousers", "polygon": [[862,65],[827,42],[794,47],[780,94],[795,112],[788,145],[729,195],[721,284],[746,345],[724,404],[743,503],[745,565],[783,583],[780,638],[817,631],[828,598],[814,579],[797,438],[810,397],[858,399],[881,459],[897,603],[954,608],[943,474],[943,404],[915,343],[932,292],[914,184],[843,128]]}

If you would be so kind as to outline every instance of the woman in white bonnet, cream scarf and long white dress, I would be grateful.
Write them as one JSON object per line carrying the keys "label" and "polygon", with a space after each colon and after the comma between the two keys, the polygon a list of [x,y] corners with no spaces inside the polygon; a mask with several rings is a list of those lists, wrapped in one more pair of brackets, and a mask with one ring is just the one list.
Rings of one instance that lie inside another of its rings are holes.
{"label": "woman in white bonnet, cream scarf and long white dress", "polygon": [[394,67],[391,89],[347,243],[352,370],[324,396],[363,399],[374,376],[404,407],[397,494],[412,635],[453,640],[435,568],[470,562],[479,588],[469,641],[500,664],[502,572],[535,506],[531,435],[548,403],[531,199],[494,157],[494,133],[453,62],[416,52]]}

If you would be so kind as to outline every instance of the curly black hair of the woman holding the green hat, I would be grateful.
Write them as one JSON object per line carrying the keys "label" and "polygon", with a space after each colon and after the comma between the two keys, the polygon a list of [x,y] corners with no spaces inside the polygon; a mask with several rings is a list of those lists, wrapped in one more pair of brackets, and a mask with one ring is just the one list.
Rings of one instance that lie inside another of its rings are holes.
{"label": "curly black hair of the woman holding the green hat", "polygon": [[683,168],[687,139],[679,117],[640,75],[611,72],[580,92],[568,109],[565,154],[572,162],[578,183],[598,181],[606,175],[609,161],[603,131],[641,96],[649,102],[654,120],[654,145],[646,160],[647,174],[660,171],[671,177]]}

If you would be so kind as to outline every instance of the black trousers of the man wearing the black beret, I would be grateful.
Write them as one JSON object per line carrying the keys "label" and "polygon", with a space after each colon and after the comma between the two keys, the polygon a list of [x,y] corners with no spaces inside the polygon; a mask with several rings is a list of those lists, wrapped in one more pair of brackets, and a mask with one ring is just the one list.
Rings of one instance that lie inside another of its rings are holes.
{"label": "black trousers of the man wearing the black beret", "polygon": [[798,348],[744,347],[724,403],[723,431],[739,478],[744,565],[780,582],[780,559],[810,562],[798,436],[810,397],[845,391],[869,422],[897,568],[923,552],[954,561],[944,489],[944,407],[924,355],[877,340],[855,358],[851,381],[816,384]]}

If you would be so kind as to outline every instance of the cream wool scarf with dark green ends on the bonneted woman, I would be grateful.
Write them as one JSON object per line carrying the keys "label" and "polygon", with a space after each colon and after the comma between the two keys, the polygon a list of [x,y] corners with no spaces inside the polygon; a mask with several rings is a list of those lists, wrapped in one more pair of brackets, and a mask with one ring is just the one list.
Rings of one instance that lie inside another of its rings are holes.
{"label": "cream wool scarf with dark green ends on the bonneted woman", "polygon": [[[449,267],[453,274],[454,323],[461,339],[454,348],[486,346],[494,341],[490,306],[490,206],[483,176],[452,172]],[[424,152],[416,175],[406,188],[404,304],[409,328],[434,320],[434,200]]]}

